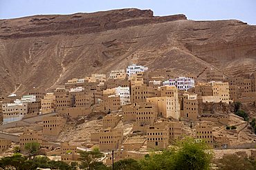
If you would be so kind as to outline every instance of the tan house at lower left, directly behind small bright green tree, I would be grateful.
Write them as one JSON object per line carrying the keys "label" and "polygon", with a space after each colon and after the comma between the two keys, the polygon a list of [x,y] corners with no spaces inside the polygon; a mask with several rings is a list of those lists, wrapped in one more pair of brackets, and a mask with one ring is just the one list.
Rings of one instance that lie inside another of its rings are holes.
{"label": "tan house at lower left, directly behind small bright green tree", "polygon": [[19,136],[19,147],[24,149],[26,143],[37,142],[42,145],[42,131],[33,131],[25,129],[24,133]]}

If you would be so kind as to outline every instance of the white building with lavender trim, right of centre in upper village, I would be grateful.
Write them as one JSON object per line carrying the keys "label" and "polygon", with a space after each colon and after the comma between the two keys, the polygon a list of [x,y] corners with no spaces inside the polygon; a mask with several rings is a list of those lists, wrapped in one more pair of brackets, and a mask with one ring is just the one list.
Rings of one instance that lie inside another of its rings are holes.
{"label": "white building with lavender trim, right of centre in upper village", "polygon": [[164,81],[163,85],[175,85],[177,89],[188,91],[194,87],[194,79],[188,77],[170,78],[170,80]]}

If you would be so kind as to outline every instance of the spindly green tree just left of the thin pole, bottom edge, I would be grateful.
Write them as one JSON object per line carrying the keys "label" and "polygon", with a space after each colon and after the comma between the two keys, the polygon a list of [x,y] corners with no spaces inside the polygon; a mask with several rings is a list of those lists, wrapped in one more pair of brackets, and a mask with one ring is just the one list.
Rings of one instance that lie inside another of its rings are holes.
{"label": "spindly green tree just left of the thin pole, bottom edge", "polygon": [[80,151],[80,168],[82,169],[95,169],[96,162],[98,159],[104,156],[98,148],[93,149],[92,151]]}

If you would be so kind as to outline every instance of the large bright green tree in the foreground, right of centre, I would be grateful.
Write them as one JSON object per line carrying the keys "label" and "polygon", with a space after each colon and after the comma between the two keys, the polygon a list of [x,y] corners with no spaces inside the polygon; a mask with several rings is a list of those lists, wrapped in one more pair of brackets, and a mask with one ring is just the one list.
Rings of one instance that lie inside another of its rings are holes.
{"label": "large bright green tree in the foreground, right of centre", "polygon": [[205,142],[185,138],[165,151],[151,153],[140,161],[142,169],[210,169],[212,151]]}

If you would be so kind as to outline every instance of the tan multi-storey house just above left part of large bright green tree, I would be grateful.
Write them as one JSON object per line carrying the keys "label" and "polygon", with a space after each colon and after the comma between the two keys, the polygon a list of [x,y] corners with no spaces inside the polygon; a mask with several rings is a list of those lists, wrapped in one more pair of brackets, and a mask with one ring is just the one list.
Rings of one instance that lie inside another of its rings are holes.
{"label": "tan multi-storey house just above left part of large bright green tree", "polygon": [[167,125],[149,126],[147,129],[147,149],[167,149],[169,127]]}

